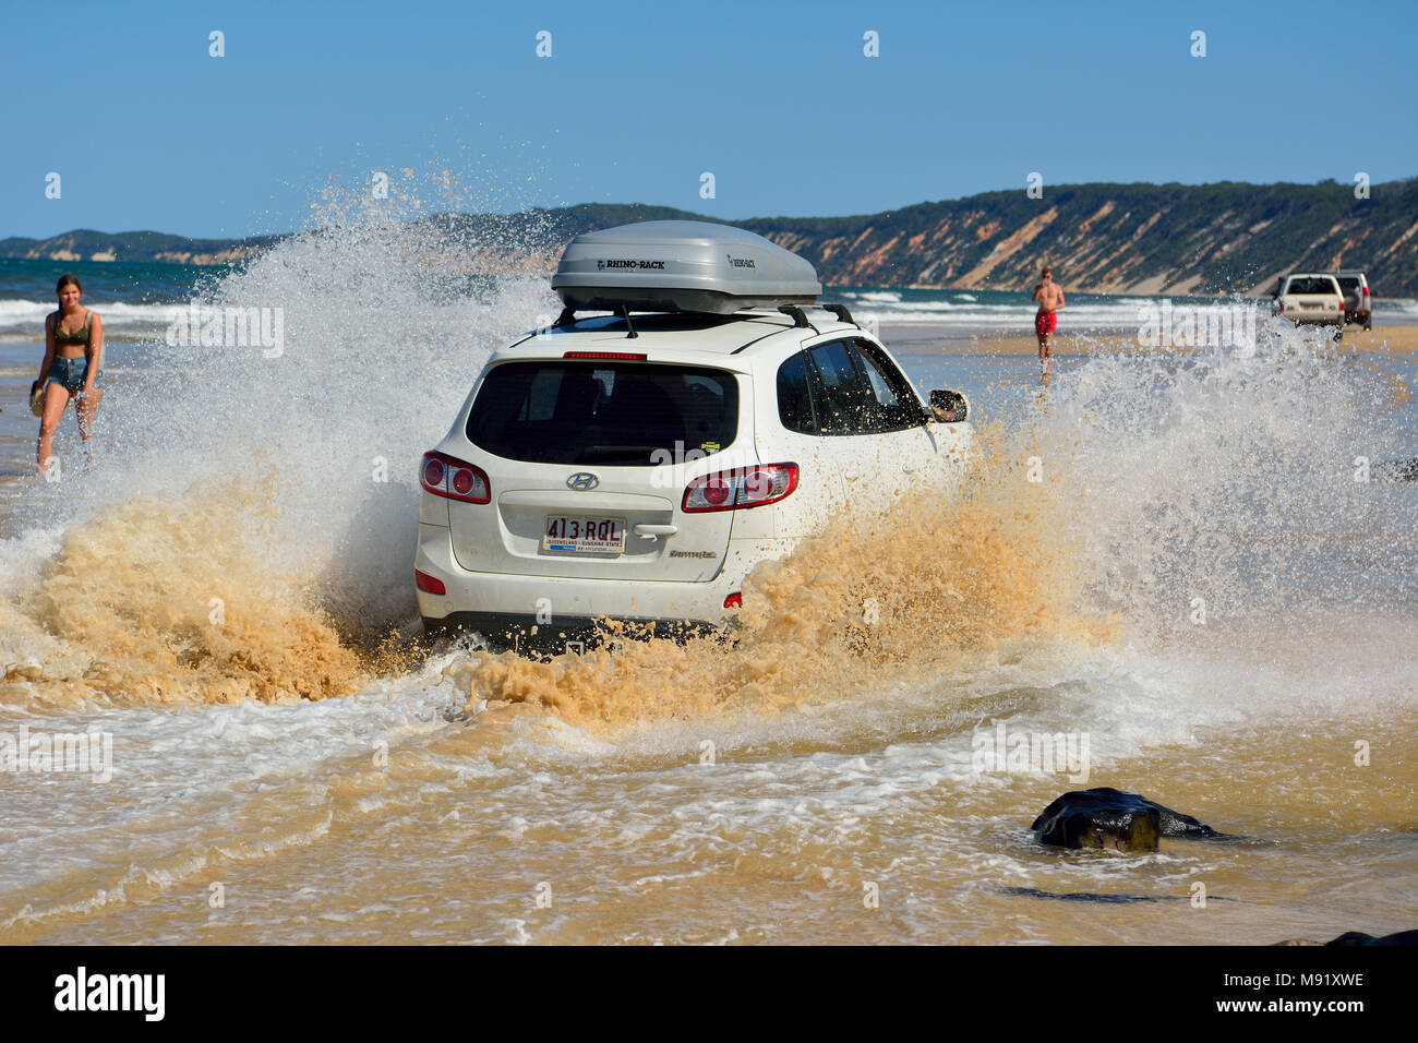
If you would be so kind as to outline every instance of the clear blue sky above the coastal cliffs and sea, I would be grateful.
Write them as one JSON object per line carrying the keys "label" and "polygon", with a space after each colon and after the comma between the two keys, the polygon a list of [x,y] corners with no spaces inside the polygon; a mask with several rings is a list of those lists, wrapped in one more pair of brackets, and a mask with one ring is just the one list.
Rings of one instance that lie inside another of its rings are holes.
{"label": "clear blue sky above the coastal cliffs and sea", "polygon": [[406,207],[417,187],[428,210],[725,219],[1024,190],[1035,170],[1045,192],[1418,175],[1411,1],[67,0],[0,27],[0,237],[286,231],[326,186],[401,167]]}

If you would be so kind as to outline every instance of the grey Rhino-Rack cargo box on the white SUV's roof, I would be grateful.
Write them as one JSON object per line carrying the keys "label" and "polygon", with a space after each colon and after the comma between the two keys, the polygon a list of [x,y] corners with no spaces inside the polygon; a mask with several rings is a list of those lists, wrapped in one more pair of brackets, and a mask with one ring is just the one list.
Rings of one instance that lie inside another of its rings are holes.
{"label": "grey Rhino-Rack cargo box on the white SUV's roof", "polygon": [[695,311],[813,304],[817,271],[763,236],[709,221],[644,221],[577,236],[552,277],[583,311]]}

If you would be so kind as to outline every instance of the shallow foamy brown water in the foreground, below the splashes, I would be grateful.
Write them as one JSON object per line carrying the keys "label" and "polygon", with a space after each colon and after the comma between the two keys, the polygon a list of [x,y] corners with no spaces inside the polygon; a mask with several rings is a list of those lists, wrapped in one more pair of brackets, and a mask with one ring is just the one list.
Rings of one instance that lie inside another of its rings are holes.
{"label": "shallow foamy brown water in the foreground, below the splashes", "polygon": [[[1015,668],[1032,663],[1021,674],[1049,660],[1055,677],[1073,673],[1058,647],[1012,654]],[[1010,656],[971,666],[1011,673]],[[1105,742],[1107,725],[1082,715],[1075,724],[1090,728],[1103,761],[1090,785],[1139,789],[1258,840],[1164,841],[1154,856],[1054,853],[1024,827],[1069,786],[971,773],[967,729],[991,715],[1046,714],[1103,681],[1096,663],[1062,684],[1015,681],[990,694],[864,691],[787,719],[744,712],[611,741],[515,708],[472,721],[406,718],[384,732],[398,734],[387,763],[315,744],[308,765],[194,782],[162,799],[64,779],[86,786],[91,806],[102,792],[128,822],[99,806],[89,823],[51,824],[64,844],[24,844],[65,850],[74,864],[34,859],[45,878],[24,890],[23,908],[7,895],[3,937],[1244,944],[1411,922],[1411,710],[1330,715],[1319,727],[1303,715],[1258,725],[1234,710],[1234,722],[1200,727],[1195,738],[1159,742],[1149,729],[1150,745],[1122,756],[1106,751],[1126,738]],[[1141,711],[1146,698],[1133,698]],[[1191,712],[1224,715],[1204,702]],[[230,721],[220,736],[228,742],[288,745],[268,729],[275,722],[242,719],[255,714],[203,714],[203,727],[213,717]],[[1170,725],[1185,731],[1185,717]],[[220,742],[194,732],[187,725],[172,744],[180,756]],[[1367,766],[1354,763],[1358,739],[1370,744]],[[119,762],[123,754],[121,742]]]}

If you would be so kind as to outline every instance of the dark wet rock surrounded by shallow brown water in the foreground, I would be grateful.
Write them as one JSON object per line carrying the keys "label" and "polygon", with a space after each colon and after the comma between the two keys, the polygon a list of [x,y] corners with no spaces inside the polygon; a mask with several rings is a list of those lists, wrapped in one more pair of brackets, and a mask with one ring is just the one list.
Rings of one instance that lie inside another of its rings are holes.
{"label": "dark wet rock surrounded by shallow brown water in the foreground", "polygon": [[1038,833],[1041,844],[1119,851],[1156,851],[1159,837],[1211,840],[1225,836],[1190,815],[1110,786],[1065,793],[1045,807],[1029,829]]}

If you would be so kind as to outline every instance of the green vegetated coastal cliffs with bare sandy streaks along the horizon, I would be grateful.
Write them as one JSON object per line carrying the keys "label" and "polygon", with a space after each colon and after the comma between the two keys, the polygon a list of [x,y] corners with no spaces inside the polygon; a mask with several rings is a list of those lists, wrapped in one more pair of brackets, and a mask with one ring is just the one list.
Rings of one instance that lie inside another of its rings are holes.
{"label": "green vegetated coastal cliffs with bare sandy streaks along the horizon", "polygon": [[[425,223],[485,257],[549,265],[571,236],[628,221],[700,217],[671,207],[584,203]],[[700,220],[713,220],[703,219]],[[1353,267],[1380,297],[1418,295],[1418,179],[1374,184],[1061,184],[917,203],[855,217],[735,221],[811,260],[824,282],[1014,289],[1042,264],[1103,292],[1261,292],[1280,272]],[[223,264],[281,237],[189,240],[71,231],[0,240],[0,257]]]}

